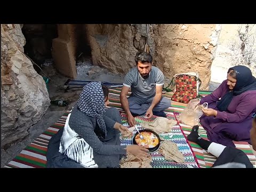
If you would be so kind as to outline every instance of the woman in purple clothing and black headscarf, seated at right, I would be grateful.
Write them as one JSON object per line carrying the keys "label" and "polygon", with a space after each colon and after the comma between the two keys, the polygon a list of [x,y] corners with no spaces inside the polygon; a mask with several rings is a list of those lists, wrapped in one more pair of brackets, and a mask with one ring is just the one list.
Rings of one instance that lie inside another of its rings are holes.
{"label": "woman in purple clothing and black headscarf, seated at right", "polygon": [[245,66],[228,69],[227,80],[210,95],[202,98],[207,102],[203,109],[201,125],[208,139],[224,146],[235,147],[234,141],[251,144],[252,114],[256,111],[256,79]]}

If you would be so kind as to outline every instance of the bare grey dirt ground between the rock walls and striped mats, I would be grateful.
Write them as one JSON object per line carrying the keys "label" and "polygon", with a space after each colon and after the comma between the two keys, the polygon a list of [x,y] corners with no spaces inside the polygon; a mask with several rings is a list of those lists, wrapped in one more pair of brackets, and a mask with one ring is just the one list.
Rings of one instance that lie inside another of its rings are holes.
{"label": "bare grey dirt ground between the rock walls and striped mats", "polygon": [[[29,143],[36,139],[42,132],[44,132],[50,125],[54,124],[65,111],[69,110],[79,98],[81,90],[64,92],[64,84],[67,81],[67,77],[60,75],[54,69],[53,65],[46,65],[43,70],[48,77],[51,78],[49,82],[49,96],[51,100],[63,99],[68,101],[67,107],[58,107],[51,105],[42,120],[31,126],[29,129],[29,135],[14,143],[7,150],[1,150],[1,167],[10,162],[16,155],[20,153]],[[90,75],[88,75],[89,73]],[[40,73],[39,73],[40,74]],[[42,74],[42,73],[41,73]],[[106,69],[102,69],[98,66],[91,66],[90,62],[78,63],[77,65],[77,79],[84,81],[107,81],[113,83],[123,83],[124,75],[113,74]],[[42,74],[42,76],[45,76]],[[166,79],[166,82],[170,82],[170,79]],[[219,86],[219,83],[210,82],[209,90],[213,91]]]}

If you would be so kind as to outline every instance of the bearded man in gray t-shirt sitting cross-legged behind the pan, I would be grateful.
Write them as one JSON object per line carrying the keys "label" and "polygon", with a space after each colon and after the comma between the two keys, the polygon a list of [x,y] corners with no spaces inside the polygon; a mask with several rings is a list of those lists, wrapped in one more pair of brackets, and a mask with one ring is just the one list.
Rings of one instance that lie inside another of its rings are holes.
{"label": "bearded man in gray t-shirt sitting cross-legged behind the pan", "polygon": [[[171,101],[162,97],[164,74],[160,69],[152,66],[152,61],[153,58],[149,53],[137,53],[135,55],[137,67],[130,69],[124,78],[120,100],[130,126],[135,124],[133,116],[165,117],[164,110],[171,107]],[[130,88],[132,94],[127,99],[126,95]]]}

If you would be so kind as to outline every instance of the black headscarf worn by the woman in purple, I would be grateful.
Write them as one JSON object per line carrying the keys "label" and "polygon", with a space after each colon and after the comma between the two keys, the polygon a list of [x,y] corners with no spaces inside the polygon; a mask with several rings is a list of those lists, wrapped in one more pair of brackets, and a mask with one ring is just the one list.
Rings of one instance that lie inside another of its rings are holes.
{"label": "black headscarf worn by the woman in purple", "polygon": [[217,102],[217,107],[220,111],[227,110],[234,96],[246,91],[256,90],[256,78],[252,76],[252,71],[248,67],[231,67],[228,69],[228,73],[230,70],[234,70],[236,73],[236,85],[232,91],[229,91]]}

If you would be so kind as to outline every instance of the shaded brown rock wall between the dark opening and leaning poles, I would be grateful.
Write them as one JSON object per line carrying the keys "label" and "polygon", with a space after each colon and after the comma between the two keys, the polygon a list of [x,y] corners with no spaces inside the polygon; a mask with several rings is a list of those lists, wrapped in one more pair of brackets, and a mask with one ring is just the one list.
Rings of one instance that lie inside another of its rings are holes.
{"label": "shaded brown rock wall between the dark opening and leaning poles", "polygon": [[[114,73],[126,73],[134,66],[136,28],[129,25],[92,24],[85,27],[94,65]],[[138,38],[140,41],[140,38]],[[141,46],[145,45],[145,41]]]}

